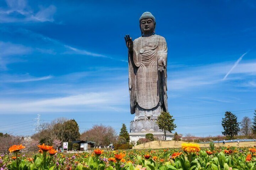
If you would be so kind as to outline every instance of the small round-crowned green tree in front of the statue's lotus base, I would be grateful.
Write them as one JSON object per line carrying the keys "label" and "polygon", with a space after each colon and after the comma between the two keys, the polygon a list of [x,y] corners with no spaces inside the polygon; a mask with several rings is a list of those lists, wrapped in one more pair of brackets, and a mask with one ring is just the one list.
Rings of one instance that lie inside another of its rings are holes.
{"label": "small round-crowned green tree in front of the statue's lotus base", "polygon": [[166,141],[166,131],[174,131],[174,129],[177,127],[174,124],[174,120],[172,119],[173,116],[170,115],[169,112],[161,112],[161,114],[157,117],[157,125],[158,127],[164,131],[165,135],[165,141]]}

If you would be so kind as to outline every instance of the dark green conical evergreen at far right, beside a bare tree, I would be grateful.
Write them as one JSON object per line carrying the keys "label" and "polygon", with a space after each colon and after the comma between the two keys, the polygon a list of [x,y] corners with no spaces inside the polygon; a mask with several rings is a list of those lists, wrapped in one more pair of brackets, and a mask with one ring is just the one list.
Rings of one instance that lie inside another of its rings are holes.
{"label": "dark green conical evergreen at far right, beside a bare tree", "polygon": [[240,130],[239,124],[240,123],[237,122],[237,116],[231,112],[226,112],[225,118],[222,118],[222,127],[224,129],[222,134],[233,138],[233,136],[237,135]]}

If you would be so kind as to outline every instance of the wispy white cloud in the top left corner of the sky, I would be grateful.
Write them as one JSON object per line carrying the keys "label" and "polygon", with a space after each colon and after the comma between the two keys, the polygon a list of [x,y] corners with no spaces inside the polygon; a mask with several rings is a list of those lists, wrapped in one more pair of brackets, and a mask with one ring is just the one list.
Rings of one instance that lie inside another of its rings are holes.
{"label": "wispy white cloud in the top left corner of the sky", "polygon": [[40,7],[34,13],[26,0],[6,0],[8,8],[0,8],[0,23],[19,23],[19,22],[53,22],[56,7]]}

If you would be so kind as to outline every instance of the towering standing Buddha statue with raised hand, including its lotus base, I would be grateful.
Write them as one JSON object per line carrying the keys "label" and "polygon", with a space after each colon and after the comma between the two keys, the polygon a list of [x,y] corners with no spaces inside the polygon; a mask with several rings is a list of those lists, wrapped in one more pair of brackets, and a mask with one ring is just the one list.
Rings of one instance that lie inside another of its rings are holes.
{"label": "towering standing Buddha statue with raised hand, including its lotus base", "polygon": [[129,57],[130,110],[131,114],[135,113],[130,131],[158,131],[153,124],[161,111],[168,111],[167,44],[164,37],[155,34],[155,17],[150,12],[143,13],[139,23],[141,37],[133,41],[129,35],[125,36]]}

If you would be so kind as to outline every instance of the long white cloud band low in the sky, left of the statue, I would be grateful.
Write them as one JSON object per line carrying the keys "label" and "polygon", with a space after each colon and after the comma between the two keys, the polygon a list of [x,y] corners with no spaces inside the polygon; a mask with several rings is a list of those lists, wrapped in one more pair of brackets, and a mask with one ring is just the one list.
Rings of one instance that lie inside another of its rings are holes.
{"label": "long white cloud band low in the sky, left of the statue", "polygon": [[[88,111],[129,111],[121,105],[127,97],[118,96],[122,89],[108,92],[88,92],[66,97],[38,100],[0,100],[1,113],[4,112],[88,112]],[[128,101],[128,100],[127,100]]]}

